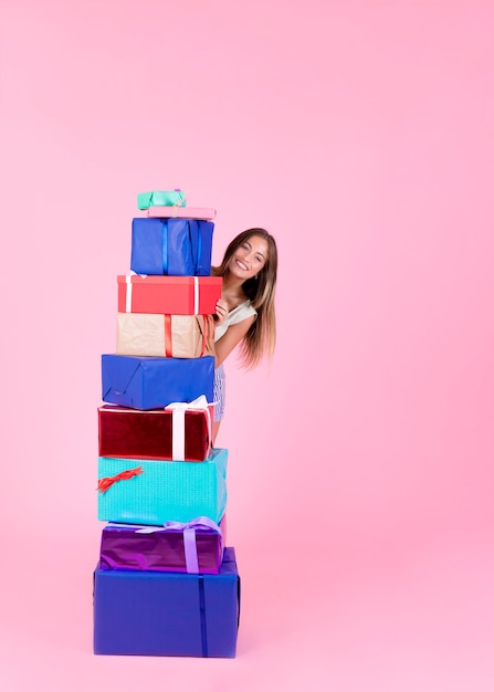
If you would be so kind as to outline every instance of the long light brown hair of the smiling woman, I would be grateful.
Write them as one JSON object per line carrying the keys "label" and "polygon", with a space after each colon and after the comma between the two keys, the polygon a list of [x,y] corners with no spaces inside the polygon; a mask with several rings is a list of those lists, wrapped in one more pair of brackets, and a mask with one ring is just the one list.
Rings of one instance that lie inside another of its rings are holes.
{"label": "long light brown hair of the smiling woman", "polygon": [[242,284],[245,296],[257,312],[257,318],[251,324],[249,332],[240,344],[240,356],[245,368],[253,368],[264,356],[273,357],[276,344],[276,317],[274,314],[274,295],[276,291],[277,248],[274,238],[262,228],[251,228],[239,233],[228,245],[220,266],[212,266],[213,276],[224,276],[227,266],[240,245],[252,235],[259,235],[267,243],[266,262],[254,279]]}

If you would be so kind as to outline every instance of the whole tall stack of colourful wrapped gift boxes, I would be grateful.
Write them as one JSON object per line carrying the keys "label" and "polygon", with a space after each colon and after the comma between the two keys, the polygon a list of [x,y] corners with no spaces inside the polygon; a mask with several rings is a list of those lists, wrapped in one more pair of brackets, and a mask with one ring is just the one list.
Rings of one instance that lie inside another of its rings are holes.
{"label": "whole tall stack of colourful wrapped gift boxes", "polygon": [[94,652],[233,658],[240,578],[224,547],[225,449],[212,449],[216,216],[138,196],[117,346],[102,356]]}

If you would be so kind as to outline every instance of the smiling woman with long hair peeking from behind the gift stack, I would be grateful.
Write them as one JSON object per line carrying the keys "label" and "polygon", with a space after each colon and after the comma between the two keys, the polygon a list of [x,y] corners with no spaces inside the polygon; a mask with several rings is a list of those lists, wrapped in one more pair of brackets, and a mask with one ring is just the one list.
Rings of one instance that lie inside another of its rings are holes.
{"label": "smiling woman with long hair peeking from behind the gift stack", "polygon": [[223,277],[216,314],[213,443],[224,413],[224,359],[239,345],[246,368],[255,367],[265,355],[273,356],[276,272],[275,240],[261,228],[237,235],[227,248],[221,265],[212,268],[214,276]]}

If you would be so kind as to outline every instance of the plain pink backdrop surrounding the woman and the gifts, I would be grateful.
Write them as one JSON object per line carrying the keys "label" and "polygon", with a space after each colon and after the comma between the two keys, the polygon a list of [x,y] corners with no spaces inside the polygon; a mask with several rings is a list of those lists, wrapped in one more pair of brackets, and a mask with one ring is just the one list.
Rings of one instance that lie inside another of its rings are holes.
{"label": "plain pink backdrop surrounding the woman and the gifts", "polygon": [[[0,688],[492,691],[494,6],[1,0]],[[228,363],[238,658],[95,657],[99,356],[139,191],[280,248]]]}

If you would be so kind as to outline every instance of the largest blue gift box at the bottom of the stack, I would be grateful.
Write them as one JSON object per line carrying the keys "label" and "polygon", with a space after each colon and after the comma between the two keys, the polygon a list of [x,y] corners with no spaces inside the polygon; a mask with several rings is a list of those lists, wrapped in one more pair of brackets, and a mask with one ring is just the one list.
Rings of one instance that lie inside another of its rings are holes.
{"label": "largest blue gift box at the bottom of the stack", "polygon": [[234,548],[220,573],[94,573],[94,653],[234,658],[240,577]]}

